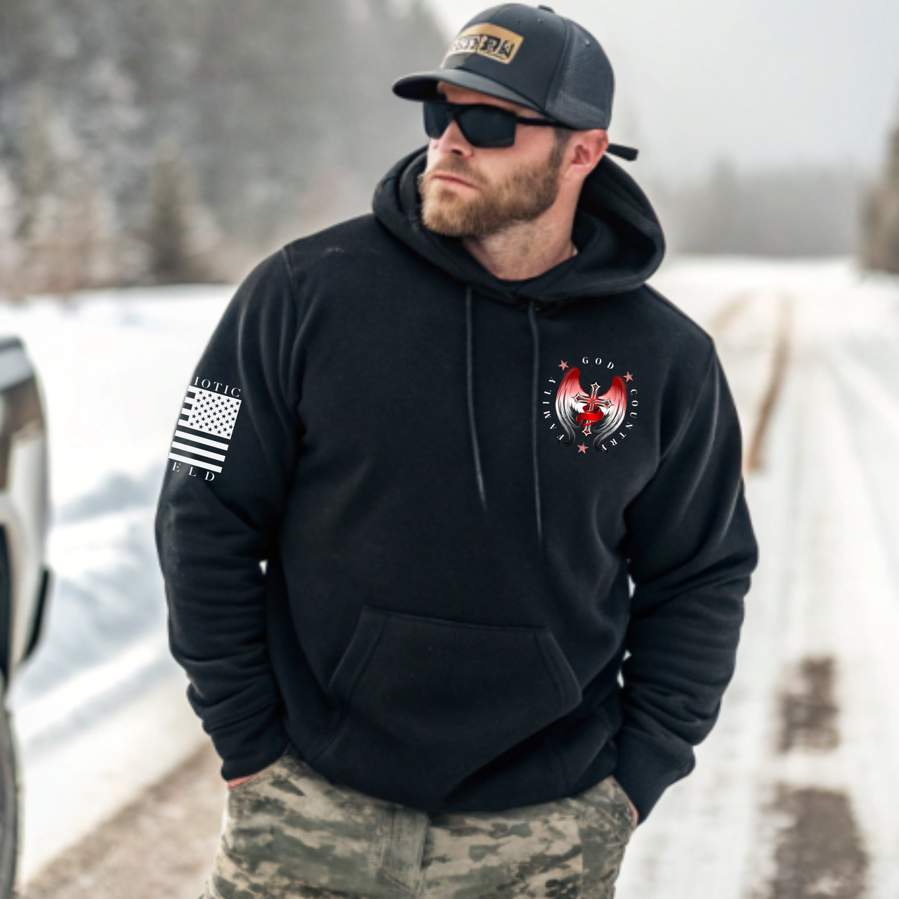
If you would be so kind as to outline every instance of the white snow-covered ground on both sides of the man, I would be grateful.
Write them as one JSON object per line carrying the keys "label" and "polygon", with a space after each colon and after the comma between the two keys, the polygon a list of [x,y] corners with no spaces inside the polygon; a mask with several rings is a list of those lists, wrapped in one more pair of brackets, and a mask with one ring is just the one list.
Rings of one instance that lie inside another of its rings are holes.
{"label": "white snow-covered ground on both sides of the man", "polygon": [[[636,831],[616,895],[895,899],[899,281],[694,257],[653,282],[721,352],[757,449],[761,563],[717,726]],[[49,628],[10,697],[22,879],[206,739],[167,654],[152,519],[182,389],[232,292],[0,306],[0,334],[40,370],[55,511]],[[805,891],[797,858],[817,859]]]}

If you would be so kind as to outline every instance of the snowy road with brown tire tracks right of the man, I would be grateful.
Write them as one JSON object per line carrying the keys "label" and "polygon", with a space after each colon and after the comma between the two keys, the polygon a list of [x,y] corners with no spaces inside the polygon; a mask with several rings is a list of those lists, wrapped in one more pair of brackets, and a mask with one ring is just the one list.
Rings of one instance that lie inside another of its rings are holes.
{"label": "snowy road with brown tire tracks right of the man", "polygon": [[720,274],[788,309],[747,478],[761,561],[716,728],[637,830],[616,895],[895,899],[899,288],[832,263]]}

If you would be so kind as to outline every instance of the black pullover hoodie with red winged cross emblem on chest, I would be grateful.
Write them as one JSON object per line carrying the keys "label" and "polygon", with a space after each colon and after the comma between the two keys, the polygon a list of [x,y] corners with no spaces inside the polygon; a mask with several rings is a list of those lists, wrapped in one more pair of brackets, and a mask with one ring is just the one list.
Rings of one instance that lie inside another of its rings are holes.
{"label": "black pullover hoodie with red winged cross emblem on chest", "polygon": [[423,227],[425,160],[259,263],[210,338],[156,518],[172,652],[225,779],[287,749],[466,812],[614,772],[644,821],[715,724],[757,561],[725,375],[645,285],[662,230],[608,156],[579,254],[521,281]]}

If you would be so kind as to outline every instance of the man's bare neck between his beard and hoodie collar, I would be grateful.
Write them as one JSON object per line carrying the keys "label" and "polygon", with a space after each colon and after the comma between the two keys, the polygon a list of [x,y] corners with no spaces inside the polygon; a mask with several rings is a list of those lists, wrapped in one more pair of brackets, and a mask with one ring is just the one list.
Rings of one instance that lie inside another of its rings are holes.
{"label": "man's bare neck between his beard and hoodie collar", "polygon": [[577,253],[567,227],[541,216],[517,222],[498,234],[465,237],[462,244],[487,271],[503,280],[536,278]]}

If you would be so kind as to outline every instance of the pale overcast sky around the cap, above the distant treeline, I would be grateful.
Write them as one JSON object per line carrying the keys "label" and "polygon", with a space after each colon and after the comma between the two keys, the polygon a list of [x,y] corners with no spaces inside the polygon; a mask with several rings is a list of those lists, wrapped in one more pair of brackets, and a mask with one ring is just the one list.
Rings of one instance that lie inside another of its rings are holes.
{"label": "pale overcast sky around the cap, above the distant treeline", "polygon": [[[428,3],[448,35],[491,5]],[[641,150],[646,174],[680,180],[719,157],[741,170],[883,163],[899,118],[899,0],[548,5],[609,55],[610,137]]]}

